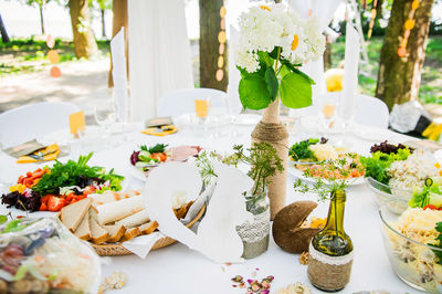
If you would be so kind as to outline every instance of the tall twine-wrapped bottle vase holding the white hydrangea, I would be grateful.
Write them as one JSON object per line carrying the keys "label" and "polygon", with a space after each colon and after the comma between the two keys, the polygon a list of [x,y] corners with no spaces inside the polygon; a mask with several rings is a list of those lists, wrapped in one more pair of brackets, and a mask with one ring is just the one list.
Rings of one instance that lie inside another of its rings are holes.
{"label": "tall twine-wrapped bottle vase holding the white hydrangea", "polygon": [[270,199],[270,213],[273,220],[276,213],[285,207],[286,180],[287,180],[287,165],[288,165],[288,133],[283,124],[280,122],[280,101],[275,102],[264,109],[263,119],[256,125],[252,132],[253,143],[270,143],[277,151],[277,155],[283,160],[284,171],[277,172],[269,179],[269,199]]}

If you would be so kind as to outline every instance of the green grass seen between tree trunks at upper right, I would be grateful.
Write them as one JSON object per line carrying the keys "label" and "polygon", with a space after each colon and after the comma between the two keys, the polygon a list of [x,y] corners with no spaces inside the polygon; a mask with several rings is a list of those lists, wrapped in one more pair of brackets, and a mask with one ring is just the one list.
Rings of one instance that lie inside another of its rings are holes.
{"label": "green grass seen between tree trunks at upper right", "polygon": [[[382,38],[373,38],[367,42],[369,62],[360,66],[360,92],[375,96],[376,82],[379,70]],[[332,49],[333,67],[337,67],[344,60],[345,38],[339,38]],[[419,99],[421,103],[442,104],[442,38],[431,36],[427,45],[427,56],[423,65]]]}

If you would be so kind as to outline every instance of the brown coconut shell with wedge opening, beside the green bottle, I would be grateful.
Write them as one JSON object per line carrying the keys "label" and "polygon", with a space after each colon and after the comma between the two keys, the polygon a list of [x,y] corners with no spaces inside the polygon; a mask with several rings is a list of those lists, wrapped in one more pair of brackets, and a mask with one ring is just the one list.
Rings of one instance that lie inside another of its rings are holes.
{"label": "brown coconut shell with wedge opening, beside the green bottle", "polygon": [[313,201],[296,201],[277,212],[272,232],[275,243],[282,250],[291,253],[308,251],[312,238],[322,229],[301,228],[301,224],[316,207],[317,203]]}

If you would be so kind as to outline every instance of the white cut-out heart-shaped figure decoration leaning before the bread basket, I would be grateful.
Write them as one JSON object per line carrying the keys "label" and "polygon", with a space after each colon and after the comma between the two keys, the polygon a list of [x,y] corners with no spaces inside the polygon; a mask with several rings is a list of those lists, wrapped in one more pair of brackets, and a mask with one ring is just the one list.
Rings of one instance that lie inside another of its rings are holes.
{"label": "white cut-out heart-shaped figure decoration leaning before the bread basket", "polygon": [[[171,209],[177,196],[185,196],[186,201],[190,201],[200,193],[202,180],[194,166],[168,162],[152,169],[144,193],[146,209],[150,219],[158,222],[158,230],[162,234],[200,251],[214,262],[242,262],[243,243],[236,225],[253,221],[253,214],[246,211],[242,195],[252,188],[253,180],[240,170],[221,164],[215,165],[215,185],[210,185],[207,192],[200,196],[207,199],[214,188],[197,234],[177,220]],[[201,201],[197,200],[198,203]]]}

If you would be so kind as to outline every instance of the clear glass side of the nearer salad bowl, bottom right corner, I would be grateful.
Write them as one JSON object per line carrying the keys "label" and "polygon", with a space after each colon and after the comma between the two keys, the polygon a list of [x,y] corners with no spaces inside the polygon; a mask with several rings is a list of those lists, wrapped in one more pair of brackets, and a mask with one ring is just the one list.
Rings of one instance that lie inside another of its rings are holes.
{"label": "clear glass side of the nearer salad bowl, bottom right corner", "polygon": [[[407,204],[403,200],[391,201]],[[417,242],[400,233],[396,229],[400,217],[390,211],[388,203],[381,206],[379,216],[383,244],[394,273],[414,288],[442,293],[442,264],[438,263],[436,258],[438,254],[442,256],[442,249]],[[413,222],[412,227],[418,223]]]}

